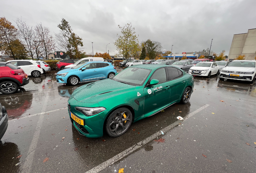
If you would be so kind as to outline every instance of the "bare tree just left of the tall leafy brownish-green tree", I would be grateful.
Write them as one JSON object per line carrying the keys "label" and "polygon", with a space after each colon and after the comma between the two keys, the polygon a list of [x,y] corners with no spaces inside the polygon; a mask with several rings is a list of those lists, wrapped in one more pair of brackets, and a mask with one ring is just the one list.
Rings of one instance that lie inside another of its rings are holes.
{"label": "bare tree just left of the tall leafy brownish-green tree", "polygon": [[48,59],[48,54],[55,49],[55,42],[52,35],[50,35],[50,29],[42,26],[40,23],[35,26],[35,30],[40,38],[41,46],[43,47],[43,56]]}

